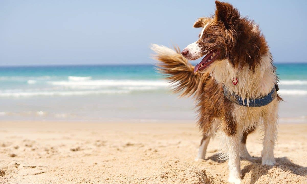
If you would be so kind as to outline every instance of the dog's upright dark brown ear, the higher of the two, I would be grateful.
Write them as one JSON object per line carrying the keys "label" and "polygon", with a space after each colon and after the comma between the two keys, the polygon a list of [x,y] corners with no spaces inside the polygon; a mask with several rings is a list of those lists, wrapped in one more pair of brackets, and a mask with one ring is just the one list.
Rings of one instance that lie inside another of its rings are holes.
{"label": "dog's upright dark brown ear, the higher of the two", "polygon": [[240,13],[231,4],[220,1],[215,1],[215,4],[215,15],[219,21],[222,21],[224,23],[226,29],[229,29],[239,20]]}

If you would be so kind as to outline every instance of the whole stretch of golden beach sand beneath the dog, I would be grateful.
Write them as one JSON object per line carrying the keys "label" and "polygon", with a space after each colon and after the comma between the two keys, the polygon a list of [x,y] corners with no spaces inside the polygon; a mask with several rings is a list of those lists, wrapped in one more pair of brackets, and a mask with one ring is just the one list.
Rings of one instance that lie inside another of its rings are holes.
{"label": "whole stretch of golden beach sand beneath the dog", "polygon": [[[0,122],[0,183],[228,183],[227,162],[194,161],[194,122]],[[307,183],[307,124],[280,125],[275,166],[261,164],[261,137],[247,138],[242,183]]]}

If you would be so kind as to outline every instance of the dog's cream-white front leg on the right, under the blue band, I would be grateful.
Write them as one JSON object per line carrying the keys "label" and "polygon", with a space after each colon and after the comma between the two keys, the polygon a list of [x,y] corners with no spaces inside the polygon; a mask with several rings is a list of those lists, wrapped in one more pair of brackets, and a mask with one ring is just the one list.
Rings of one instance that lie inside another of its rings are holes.
{"label": "dog's cream-white front leg on the right, under the blue band", "polygon": [[273,166],[276,163],[274,159],[274,145],[277,139],[277,118],[277,109],[263,117],[262,164],[265,165]]}

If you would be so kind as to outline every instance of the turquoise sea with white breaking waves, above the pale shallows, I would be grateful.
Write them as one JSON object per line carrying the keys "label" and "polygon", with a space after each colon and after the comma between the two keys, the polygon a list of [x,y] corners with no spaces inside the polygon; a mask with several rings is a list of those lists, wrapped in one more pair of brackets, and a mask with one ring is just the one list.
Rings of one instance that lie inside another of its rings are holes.
{"label": "turquoise sea with white breaking waves, above the pale shallows", "polygon": [[[307,94],[307,64],[277,64],[281,94]],[[0,67],[0,97],[159,91],[153,65]]]}

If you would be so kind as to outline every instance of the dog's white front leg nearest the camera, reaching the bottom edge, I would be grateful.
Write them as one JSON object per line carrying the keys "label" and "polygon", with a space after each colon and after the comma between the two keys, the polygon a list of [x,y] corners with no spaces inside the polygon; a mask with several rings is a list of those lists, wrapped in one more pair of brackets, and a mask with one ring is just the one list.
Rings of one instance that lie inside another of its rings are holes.
{"label": "dog's white front leg nearest the camera, reaching the bottom edge", "polygon": [[241,135],[236,133],[232,136],[227,136],[228,146],[228,167],[229,179],[228,182],[232,184],[241,183],[241,168],[240,168],[240,151],[239,144],[241,144]]}

